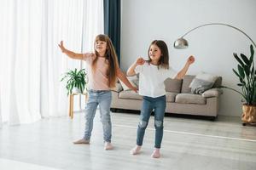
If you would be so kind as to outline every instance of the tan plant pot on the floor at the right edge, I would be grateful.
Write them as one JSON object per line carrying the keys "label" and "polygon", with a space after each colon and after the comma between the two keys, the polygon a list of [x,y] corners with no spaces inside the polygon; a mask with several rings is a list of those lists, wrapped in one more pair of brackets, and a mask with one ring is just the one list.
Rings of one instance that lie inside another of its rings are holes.
{"label": "tan plant pot on the floor at the right edge", "polygon": [[256,105],[242,105],[241,121],[245,123],[256,122]]}

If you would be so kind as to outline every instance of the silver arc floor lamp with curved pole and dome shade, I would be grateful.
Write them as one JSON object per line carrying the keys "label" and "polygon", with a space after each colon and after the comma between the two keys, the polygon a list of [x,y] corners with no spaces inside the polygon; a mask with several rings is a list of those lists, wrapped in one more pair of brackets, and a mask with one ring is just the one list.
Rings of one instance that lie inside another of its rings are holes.
{"label": "silver arc floor lamp with curved pole and dome shade", "polygon": [[174,48],[177,48],[177,49],[188,48],[189,47],[189,42],[186,39],[184,39],[183,37],[185,37],[187,34],[189,34],[189,32],[194,31],[194,30],[196,30],[200,27],[212,26],[212,25],[229,26],[231,28],[234,28],[237,31],[240,31],[243,35],[245,35],[253,43],[253,46],[256,48],[256,44],[255,44],[255,42],[253,42],[253,39],[251,37],[249,37],[244,31],[241,31],[239,28],[236,28],[235,26],[230,26],[230,25],[224,24],[224,23],[209,23],[209,24],[204,24],[204,25],[201,25],[201,26],[196,26],[195,28],[193,28],[190,31],[188,31],[187,33],[185,33],[182,37],[178,38],[174,42]]}

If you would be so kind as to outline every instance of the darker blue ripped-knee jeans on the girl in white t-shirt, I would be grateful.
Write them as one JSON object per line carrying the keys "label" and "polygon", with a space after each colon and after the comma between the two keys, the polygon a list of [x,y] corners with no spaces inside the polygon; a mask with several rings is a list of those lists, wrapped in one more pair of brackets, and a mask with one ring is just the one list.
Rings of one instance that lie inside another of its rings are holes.
{"label": "darker blue ripped-knee jeans on the girl in white t-shirt", "polygon": [[163,122],[166,111],[166,95],[157,98],[143,96],[140,122],[137,127],[137,145],[143,145],[143,138],[151,112],[154,110],[154,147],[160,148],[163,139]]}

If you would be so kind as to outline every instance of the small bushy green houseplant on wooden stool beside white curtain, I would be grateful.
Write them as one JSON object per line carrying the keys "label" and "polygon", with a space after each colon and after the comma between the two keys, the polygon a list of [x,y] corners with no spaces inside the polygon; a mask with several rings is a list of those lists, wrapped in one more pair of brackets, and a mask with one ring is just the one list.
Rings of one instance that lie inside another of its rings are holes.
{"label": "small bushy green houseplant on wooden stool beside white curtain", "polygon": [[64,77],[61,78],[61,82],[67,80],[67,95],[72,94],[73,88],[79,88],[79,91],[83,93],[86,85],[85,76],[86,73],[84,69],[81,69],[80,71],[75,69],[74,71],[67,71],[64,74]]}

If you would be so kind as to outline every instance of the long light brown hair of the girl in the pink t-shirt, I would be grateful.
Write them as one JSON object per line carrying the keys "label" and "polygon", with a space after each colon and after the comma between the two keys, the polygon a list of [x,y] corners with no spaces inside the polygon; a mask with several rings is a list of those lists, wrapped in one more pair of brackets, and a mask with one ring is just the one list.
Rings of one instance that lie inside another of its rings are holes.
{"label": "long light brown hair of the girl in the pink t-shirt", "polygon": [[[105,53],[105,59],[108,60],[108,86],[109,88],[115,87],[115,83],[117,80],[117,70],[119,68],[119,63],[117,59],[117,54],[113,48],[113,43],[111,42],[110,38],[107,35],[99,34],[95,38],[94,46],[96,45],[97,41],[107,42],[107,49]],[[96,54],[96,59],[92,62],[92,70],[96,71],[96,61],[100,54],[96,51],[94,47],[94,52]]]}

